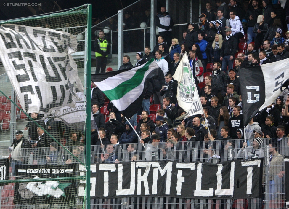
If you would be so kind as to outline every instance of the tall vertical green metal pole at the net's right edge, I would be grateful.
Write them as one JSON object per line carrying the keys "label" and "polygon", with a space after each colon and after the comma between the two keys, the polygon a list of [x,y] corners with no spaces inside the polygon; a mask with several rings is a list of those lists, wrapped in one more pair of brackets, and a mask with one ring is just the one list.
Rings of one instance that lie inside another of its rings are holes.
{"label": "tall vertical green metal pole at the net's right edge", "polygon": [[91,85],[91,4],[87,5],[87,48],[86,48],[86,209],[90,209],[90,85]]}

